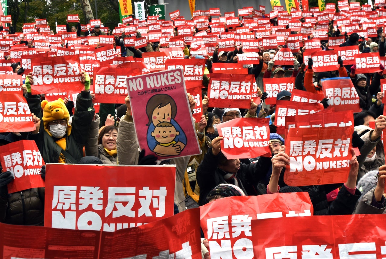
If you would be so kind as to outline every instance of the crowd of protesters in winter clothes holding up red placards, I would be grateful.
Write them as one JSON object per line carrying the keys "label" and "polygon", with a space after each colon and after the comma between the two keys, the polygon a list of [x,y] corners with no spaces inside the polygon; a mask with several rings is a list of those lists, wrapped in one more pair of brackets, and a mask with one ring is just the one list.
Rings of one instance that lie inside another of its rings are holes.
{"label": "crowd of protesters in winter clothes holding up red placards", "polygon": [[[375,11],[384,12],[384,8],[374,8]],[[356,10],[359,11],[359,10]],[[346,11],[347,12],[347,11]],[[273,12],[271,12],[273,14]],[[270,14],[270,15],[271,15]],[[339,12],[338,12],[339,14]],[[272,17],[264,11],[250,14],[248,17],[270,18],[271,27],[278,26],[277,16]],[[277,15],[277,14],[276,14]],[[240,16],[241,17],[241,16]],[[246,17],[241,17],[239,26],[243,27]],[[209,21],[213,19],[208,18]],[[298,18],[305,22],[306,17]],[[280,20],[280,14],[279,14]],[[318,21],[315,26],[322,24]],[[355,21],[356,22],[356,21]],[[364,17],[358,21],[371,22],[371,17]],[[328,37],[345,36],[345,42],[341,46],[358,46],[361,53],[378,52],[379,56],[385,56],[385,36],[382,26],[377,27],[376,37],[360,37],[357,32],[345,32],[336,21],[330,19],[325,32]],[[129,24],[128,24],[129,25]],[[96,25],[81,31],[81,24],[69,26],[68,32],[76,32],[78,37],[115,35],[114,48],[121,48],[122,56],[134,56],[142,58],[142,53],[159,51],[158,42],[148,42],[146,47],[134,48],[125,46],[125,37],[129,35],[114,34],[109,30],[108,34]],[[226,26],[226,31],[234,31],[235,27]],[[289,27],[283,25],[283,29]],[[12,23],[9,24],[9,33],[14,34]],[[291,29],[291,28],[289,28]],[[210,33],[210,26],[207,33]],[[0,28],[0,31],[3,31]],[[253,29],[251,29],[253,31]],[[198,33],[198,28],[193,32]],[[37,33],[39,28],[37,27]],[[53,33],[53,32],[51,32]],[[292,31],[291,34],[299,34],[300,31]],[[174,36],[177,35],[174,29]],[[136,37],[142,37],[140,32],[135,32]],[[6,36],[4,36],[6,37]],[[221,35],[219,34],[219,37]],[[288,38],[288,36],[286,36]],[[310,33],[303,34],[304,39],[315,39]],[[27,48],[33,48],[33,41],[20,41]],[[63,44],[63,46],[66,46]],[[102,45],[98,45],[102,46]],[[69,46],[67,46],[70,48]],[[305,47],[293,53],[293,65],[277,65],[274,55],[286,44],[274,48],[259,47],[259,61],[256,64],[244,65],[248,73],[254,75],[256,80],[260,78],[282,78],[287,71],[292,70],[291,77],[295,77],[295,89],[306,92],[323,94],[322,80],[334,77],[349,77],[359,95],[361,112],[354,114],[354,134],[352,146],[360,150],[360,155],[352,152],[350,160],[349,176],[346,182],[340,184],[315,185],[289,187],[283,179],[286,165],[289,165],[289,156],[285,152],[285,140],[283,135],[276,133],[274,125],[275,106],[264,104],[267,94],[262,86],[257,89],[257,95],[261,98],[258,103],[251,100],[249,109],[239,108],[213,108],[208,98],[208,83],[210,74],[213,73],[213,63],[238,63],[237,54],[244,53],[241,44],[235,44],[233,51],[222,51],[218,44],[213,53],[208,56],[191,55],[190,43],[184,44],[185,58],[205,58],[206,68],[202,82],[202,108],[203,116],[196,121],[197,138],[202,151],[201,155],[194,157],[177,157],[171,160],[163,160],[161,164],[175,164],[176,191],[174,203],[176,212],[181,212],[189,207],[195,207],[227,196],[243,195],[269,195],[278,192],[309,193],[314,206],[314,215],[347,215],[352,213],[384,213],[386,199],[384,198],[384,179],[386,177],[386,165],[382,131],[386,127],[386,116],[383,114],[383,97],[381,79],[384,78],[384,66],[379,65],[380,72],[356,73],[356,65],[343,65],[339,56],[339,69],[329,72],[313,72],[313,60],[303,59]],[[12,47],[11,47],[12,49]],[[320,48],[315,51],[327,51],[328,39],[321,41]],[[5,59],[12,59],[6,56]],[[24,75],[24,68],[20,63],[12,63],[15,74]],[[263,73],[264,72],[264,73]],[[4,132],[0,135],[0,145],[18,140],[34,140],[46,163],[70,163],[70,164],[106,164],[106,165],[156,165],[154,154],[145,154],[144,150],[138,150],[138,142],[135,135],[134,122],[130,107],[130,97],[127,96],[120,104],[100,104],[100,112],[93,109],[93,97],[90,92],[90,78],[87,73],[81,73],[81,82],[84,90],[76,99],[74,112],[73,102],[69,99],[59,99],[48,102],[44,95],[34,95],[31,89],[34,80],[31,74],[24,75],[25,83],[22,86],[22,94],[32,112],[32,121],[36,129],[31,132]],[[278,93],[276,100],[290,100],[291,92],[283,90]],[[193,107],[195,100],[192,96],[186,97]],[[327,98],[320,100],[325,108],[329,105]],[[235,118],[271,118],[269,125],[271,157],[227,159],[221,152],[222,137],[218,136],[217,124],[227,122]],[[169,118],[170,119],[170,118]],[[41,123],[42,122],[42,123]],[[165,119],[165,122],[170,122]],[[371,123],[375,128],[370,128]],[[158,163],[159,164],[159,163]],[[52,172],[47,172],[52,174]],[[41,176],[46,177],[45,167],[42,167]],[[44,188],[32,188],[17,193],[8,194],[7,184],[14,181],[11,172],[0,174],[0,222],[19,225],[44,225]],[[191,201],[185,203],[185,201]]]}

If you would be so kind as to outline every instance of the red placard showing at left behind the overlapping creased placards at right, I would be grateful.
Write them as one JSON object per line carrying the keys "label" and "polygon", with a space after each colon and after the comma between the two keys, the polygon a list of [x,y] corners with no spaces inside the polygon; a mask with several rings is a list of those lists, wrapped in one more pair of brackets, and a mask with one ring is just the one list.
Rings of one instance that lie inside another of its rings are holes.
{"label": "red placard showing at left behind the overlapping creased placards at right", "polygon": [[323,110],[323,104],[310,104],[303,102],[277,101],[274,124],[278,127],[277,133],[284,135],[286,116],[313,114]]}

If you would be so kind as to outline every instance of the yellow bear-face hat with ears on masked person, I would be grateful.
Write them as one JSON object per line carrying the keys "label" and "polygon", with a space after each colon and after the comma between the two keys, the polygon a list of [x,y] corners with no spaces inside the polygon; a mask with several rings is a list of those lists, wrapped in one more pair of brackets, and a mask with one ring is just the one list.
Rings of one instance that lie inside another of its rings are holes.
{"label": "yellow bear-face hat with ears on masked person", "polygon": [[68,124],[68,120],[70,118],[70,114],[66,105],[64,104],[63,99],[59,98],[56,101],[48,102],[47,100],[42,101],[41,107],[43,108],[43,124],[44,130],[49,133],[47,129],[48,123],[51,121],[55,121],[57,119],[66,119],[67,120],[67,135],[71,134],[71,125]]}

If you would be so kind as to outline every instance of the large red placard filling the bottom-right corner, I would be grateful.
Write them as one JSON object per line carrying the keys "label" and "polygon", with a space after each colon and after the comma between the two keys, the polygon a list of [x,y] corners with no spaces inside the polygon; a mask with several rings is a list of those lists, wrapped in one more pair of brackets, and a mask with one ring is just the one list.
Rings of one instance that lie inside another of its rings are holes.
{"label": "large red placard filling the bottom-right corner", "polygon": [[[256,233],[261,237],[261,233],[266,233],[264,237],[253,239],[254,256],[262,259],[301,258],[300,255],[305,254],[312,257],[323,255],[324,258],[382,258],[386,233],[382,216],[334,215],[252,220],[252,236]],[[273,224],[277,231],[272,231]],[[368,231],[359,234],[361,229]],[[287,233],[293,233],[290,239],[285,238]]]}

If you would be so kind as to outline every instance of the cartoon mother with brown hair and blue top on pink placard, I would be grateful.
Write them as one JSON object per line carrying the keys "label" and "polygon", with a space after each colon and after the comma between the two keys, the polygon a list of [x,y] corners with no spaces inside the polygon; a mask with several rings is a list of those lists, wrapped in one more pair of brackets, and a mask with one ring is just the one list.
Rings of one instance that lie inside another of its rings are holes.
{"label": "cartoon mother with brown hair and blue top on pink placard", "polygon": [[[179,155],[185,148],[186,135],[174,120],[177,114],[177,105],[173,98],[167,94],[156,94],[152,96],[149,101],[147,101],[146,114],[149,119],[149,122],[146,124],[146,126],[149,126],[149,128],[147,128],[147,146],[150,150],[157,155]],[[162,122],[171,123],[175,130],[179,132],[174,138],[175,144],[169,146],[160,145],[160,143],[156,141],[156,138],[152,136],[156,126]]]}

